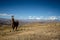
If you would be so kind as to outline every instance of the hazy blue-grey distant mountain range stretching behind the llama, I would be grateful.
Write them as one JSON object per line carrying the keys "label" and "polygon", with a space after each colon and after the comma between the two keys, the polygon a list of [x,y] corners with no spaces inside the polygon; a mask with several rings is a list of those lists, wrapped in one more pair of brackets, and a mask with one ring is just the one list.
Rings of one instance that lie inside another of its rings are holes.
{"label": "hazy blue-grey distant mountain range stretching behind the llama", "polygon": [[[60,20],[37,20],[37,19],[20,19],[19,25],[24,25],[32,22],[60,22]],[[0,18],[0,25],[11,25],[11,19]]]}

